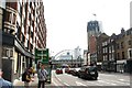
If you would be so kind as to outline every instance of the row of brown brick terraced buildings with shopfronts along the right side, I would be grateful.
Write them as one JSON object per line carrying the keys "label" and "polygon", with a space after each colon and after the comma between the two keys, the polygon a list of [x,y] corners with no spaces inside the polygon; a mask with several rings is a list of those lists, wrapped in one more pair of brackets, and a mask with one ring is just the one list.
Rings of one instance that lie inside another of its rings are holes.
{"label": "row of brown brick terraced buildings with shopfronts along the right side", "polygon": [[130,73],[132,65],[132,29],[111,36],[97,37],[97,61],[102,70]]}

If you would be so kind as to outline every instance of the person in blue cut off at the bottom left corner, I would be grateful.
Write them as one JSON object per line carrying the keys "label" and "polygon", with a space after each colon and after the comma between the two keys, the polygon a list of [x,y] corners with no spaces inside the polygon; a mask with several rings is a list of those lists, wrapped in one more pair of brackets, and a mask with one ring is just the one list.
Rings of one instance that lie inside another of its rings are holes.
{"label": "person in blue cut off at the bottom left corner", "polygon": [[0,68],[0,88],[13,88],[12,82],[2,78],[3,72]]}

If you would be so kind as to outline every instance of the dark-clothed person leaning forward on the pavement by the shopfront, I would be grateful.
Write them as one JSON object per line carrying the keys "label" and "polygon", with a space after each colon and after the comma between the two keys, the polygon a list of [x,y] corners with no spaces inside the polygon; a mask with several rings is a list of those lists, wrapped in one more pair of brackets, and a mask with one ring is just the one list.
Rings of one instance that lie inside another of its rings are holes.
{"label": "dark-clothed person leaning forward on the pavement by the shopfront", "polygon": [[31,78],[32,69],[28,68],[25,72],[22,74],[22,81],[24,81],[24,87],[29,88],[30,81],[33,81]]}

